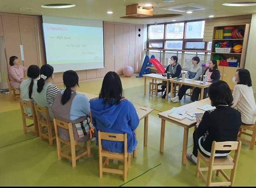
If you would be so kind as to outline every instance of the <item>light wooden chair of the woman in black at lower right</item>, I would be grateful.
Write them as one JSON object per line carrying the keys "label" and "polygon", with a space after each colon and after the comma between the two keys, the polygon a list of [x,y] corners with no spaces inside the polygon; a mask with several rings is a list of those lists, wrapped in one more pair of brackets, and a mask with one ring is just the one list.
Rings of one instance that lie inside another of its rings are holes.
{"label": "light wooden chair of the woman in black at lower right", "polygon": [[[224,141],[224,142],[212,142],[211,154],[215,154],[216,150],[228,151],[235,150],[235,157],[232,159],[230,155],[225,158],[216,158],[211,155],[210,158],[204,157],[198,150],[197,164],[196,164],[196,177],[201,178],[206,182],[206,186],[233,186],[235,182],[235,173],[237,171],[237,162],[241,149],[241,141]],[[200,167],[202,160],[207,167]],[[231,169],[230,178],[223,171],[223,169]],[[224,176],[227,181],[212,183],[212,171],[217,170],[216,176],[219,176],[219,172]],[[203,176],[202,171],[208,171],[207,179]]]}

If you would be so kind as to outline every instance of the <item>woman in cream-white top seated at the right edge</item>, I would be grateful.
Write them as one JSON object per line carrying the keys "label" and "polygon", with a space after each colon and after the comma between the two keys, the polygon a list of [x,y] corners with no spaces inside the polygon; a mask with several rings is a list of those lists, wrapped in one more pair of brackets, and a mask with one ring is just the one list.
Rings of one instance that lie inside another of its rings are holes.
{"label": "woman in cream-white top seated at the right edge", "polygon": [[240,110],[243,124],[252,125],[256,121],[256,105],[250,72],[247,69],[238,69],[233,82],[237,85],[233,90],[232,107]]}

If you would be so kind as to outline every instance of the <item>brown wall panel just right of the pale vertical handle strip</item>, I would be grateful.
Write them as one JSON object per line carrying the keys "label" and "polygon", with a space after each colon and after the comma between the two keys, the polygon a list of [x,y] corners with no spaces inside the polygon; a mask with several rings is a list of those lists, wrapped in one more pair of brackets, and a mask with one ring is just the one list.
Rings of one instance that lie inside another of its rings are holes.
{"label": "brown wall panel just right of the pale vertical handle strip", "polygon": [[19,17],[19,31],[24,52],[24,66],[39,65],[35,39],[34,19]]}

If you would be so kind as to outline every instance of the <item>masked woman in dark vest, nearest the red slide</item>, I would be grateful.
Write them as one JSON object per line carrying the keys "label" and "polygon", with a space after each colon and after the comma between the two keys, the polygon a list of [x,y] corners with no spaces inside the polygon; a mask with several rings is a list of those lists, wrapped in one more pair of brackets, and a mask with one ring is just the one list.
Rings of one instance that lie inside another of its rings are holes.
{"label": "masked woman in dark vest, nearest the red slide", "polygon": [[[163,73],[163,76],[167,76],[167,72],[170,73],[170,77],[175,78],[175,77],[180,77],[181,76],[181,65],[178,64],[178,57],[177,56],[172,56],[169,62],[169,65],[167,66],[165,73]],[[167,82],[163,81],[162,83],[162,89],[158,90],[158,92],[163,92],[166,89]],[[170,87],[169,91],[170,92]],[[166,97],[166,91],[165,94],[163,94],[162,98]]]}

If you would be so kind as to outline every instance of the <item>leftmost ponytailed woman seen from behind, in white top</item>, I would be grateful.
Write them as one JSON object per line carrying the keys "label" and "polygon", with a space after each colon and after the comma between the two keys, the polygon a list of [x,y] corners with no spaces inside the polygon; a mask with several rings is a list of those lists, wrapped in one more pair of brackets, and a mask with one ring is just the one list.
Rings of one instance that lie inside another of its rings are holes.
{"label": "leftmost ponytailed woman seen from behind, in white top", "polygon": [[[37,90],[37,79],[40,76],[40,68],[37,65],[28,67],[28,79],[21,82],[21,100],[32,101],[35,91]],[[26,113],[31,116],[31,109],[26,108]]]}

